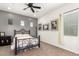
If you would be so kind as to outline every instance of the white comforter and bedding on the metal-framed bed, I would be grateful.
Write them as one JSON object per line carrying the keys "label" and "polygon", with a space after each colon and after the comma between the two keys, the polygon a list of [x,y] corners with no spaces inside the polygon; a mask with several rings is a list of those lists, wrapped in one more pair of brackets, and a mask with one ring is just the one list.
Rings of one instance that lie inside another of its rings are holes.
{"label": "white comforter and bedding on the metal-framed bed", "polygon": [[[38,39],[37,38],[33,38],[32,36],[30,36],[29,34],[16,34],[15,37],[17,37],[17,39],[19,40],[19,43],[17,43],[17,47],[25,47],[29,44],[37,44],[38,43]],[[13,43],[11,45],[11,49],[14,50],[15,49],[15,37],[13,39]],[[31,38],[31,39],[28,39]],[[20,40],[22,39],[22,40]],[[26,40],[23,40],[26,39]],[[18,42],[18,41],[17,41]]]}

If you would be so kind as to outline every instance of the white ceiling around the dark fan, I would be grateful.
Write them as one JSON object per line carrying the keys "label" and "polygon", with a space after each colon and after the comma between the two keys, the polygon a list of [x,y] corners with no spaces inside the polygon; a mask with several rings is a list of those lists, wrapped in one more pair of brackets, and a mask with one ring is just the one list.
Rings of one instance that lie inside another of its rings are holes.
{"label": "white ceiling around the dark fan", "polygon": [[62,4],[63,3],[34,3],[35,6],[40,6],[41,9],[34,9],[35,13],[33,13],[29,8],[25,11],[23,10],[23,8],[27,7],[24,3],[0,3],[0,10],[39,18],[50,10],[55,10],[56,8],[62,6]]}

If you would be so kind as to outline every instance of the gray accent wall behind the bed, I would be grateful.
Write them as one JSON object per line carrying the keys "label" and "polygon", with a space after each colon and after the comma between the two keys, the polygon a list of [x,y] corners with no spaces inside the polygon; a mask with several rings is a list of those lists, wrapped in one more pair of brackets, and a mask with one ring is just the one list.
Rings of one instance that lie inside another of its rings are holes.
{"label": "gray accent wall behind the bed", "polygon": [[[8,25],[8,19],[13,20],[13,25]],[[20,21],[24,20],[25,26],[20,25]],[[33,22],[33,27],[30,27],[30,22]],[[5,11],[0,11],[0,32],[5,32],[5,35],[14,35],[14,29],[20,30],[22,28],[26,30],[31,30],[31,35],[36,36],[37,19],[32,17],[27,17],[23,15],[18,15],[14,13],[9,13]]]}

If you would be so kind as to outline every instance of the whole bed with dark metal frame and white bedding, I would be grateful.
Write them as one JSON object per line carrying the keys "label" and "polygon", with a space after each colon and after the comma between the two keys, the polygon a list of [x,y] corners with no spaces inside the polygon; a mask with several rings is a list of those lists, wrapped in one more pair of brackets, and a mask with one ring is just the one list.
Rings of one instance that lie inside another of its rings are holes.
{"label": "whole bed with dark metal frame and white bedding", "polygon": [[20,50],[31,49],[35,47],[40,48],[40,36],[31,36],[30,30],[14,30],[14,38],[11,45],[11,50],[15,51],[15,55],[17,55]]}

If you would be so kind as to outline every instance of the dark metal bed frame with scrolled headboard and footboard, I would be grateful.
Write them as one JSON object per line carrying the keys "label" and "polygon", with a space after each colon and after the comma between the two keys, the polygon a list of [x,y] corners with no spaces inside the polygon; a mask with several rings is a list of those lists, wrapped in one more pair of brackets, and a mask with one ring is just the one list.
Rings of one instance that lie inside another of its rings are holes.
{"label": "dark metal bed frame with scrolled headboard and footboard", "polygon": [[[16,34],[30,34],[30,30],[29,31],[26,31],[25,29],[21,29],[19,31],[14,30],[14,37],[15,37]],[[22,49],[20,49],[20,48],[17,48],[17,44],[19,43],[19,40],[17,39],[17,37],[15,37],[15,50],[14,50],[15,55],[17,55],[18,51],[20,51],[20,50],[30,49],[30,48],[33,48],[33,47],[36,47],[36,46],[38,46],[40,48],[40,36],[33,37],[33,38],[27,38],[27,39],[30,40],[30,39],[35,39],[35,38],[38,38],[38,44],[36,44],[36,45],[30,45],[29,44],[28,46],[26,46],[24,48],[22,46]],[[20,39],[20,40],[22,40],[22,42],[23,42],[24,40],[27,40],[27,39]]]}

